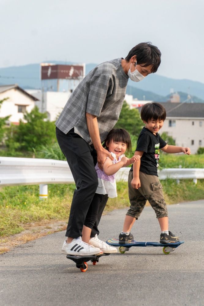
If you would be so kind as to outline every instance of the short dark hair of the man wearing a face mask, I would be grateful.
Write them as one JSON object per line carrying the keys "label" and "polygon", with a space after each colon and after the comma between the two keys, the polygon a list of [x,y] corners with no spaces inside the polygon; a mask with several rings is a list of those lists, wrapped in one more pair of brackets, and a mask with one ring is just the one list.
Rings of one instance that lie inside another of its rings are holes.
{"label": "short dark hair of the man wearing a face mask", "polygon": [[156,72],[161,63],[161,52],[158,47],[153,46],[152,43],[139,43],[133,47],[126,56],[126,62],[136,55],[137,64],[145,64],[144,67],[153,65],[152,73]]}

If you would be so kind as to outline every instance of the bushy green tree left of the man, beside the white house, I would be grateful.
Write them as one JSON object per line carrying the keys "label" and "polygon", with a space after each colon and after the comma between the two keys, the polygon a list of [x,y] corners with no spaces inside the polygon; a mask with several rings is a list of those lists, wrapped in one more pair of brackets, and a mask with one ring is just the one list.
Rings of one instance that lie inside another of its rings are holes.
{"label": "bushy green tree left of the man, beside the white house", "polygon": [[42,145],[50,145],[56,141],[54,122],[46,121],[46,113],[40,113],[35,106],[30,113],[24,114],[24,123],[11,126],[7,134],[6,145],[10,150],[18,148],[21,151],[33,151]]}

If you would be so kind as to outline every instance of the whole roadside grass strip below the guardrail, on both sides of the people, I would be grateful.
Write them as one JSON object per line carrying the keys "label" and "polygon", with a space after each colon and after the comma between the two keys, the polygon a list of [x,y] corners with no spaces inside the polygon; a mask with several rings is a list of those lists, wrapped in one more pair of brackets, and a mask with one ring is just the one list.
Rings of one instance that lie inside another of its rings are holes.
{"label": "whole roadside grass strip below the guardrail, on both sides of the people", "polygon": [[[204,199],[204,180],[161,181],[167,204]],[[39,200],[39,186],[8,186],[0,190],[0,236],[20,233],[29,222],[68,220],[74,184],[50,184],[48,199]],[[109,199],[105,211],[129,206],[126,182],[117,183],[118,197]],[[2,241],[0,241],[2,242]]]}

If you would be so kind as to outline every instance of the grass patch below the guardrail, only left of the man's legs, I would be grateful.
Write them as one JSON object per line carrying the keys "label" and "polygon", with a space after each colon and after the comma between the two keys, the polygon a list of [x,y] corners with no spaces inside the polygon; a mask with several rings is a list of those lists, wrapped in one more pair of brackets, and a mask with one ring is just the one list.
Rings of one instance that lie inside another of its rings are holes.
{"label": "grass patch below the guardrail, only left of the man's legs", "polygon": [[49,185],[48,199],[39,200],[39,186],[8,186],[0,191],[0,236],[20,233],[29,222],[67,220],[75,189],[70,185]]}

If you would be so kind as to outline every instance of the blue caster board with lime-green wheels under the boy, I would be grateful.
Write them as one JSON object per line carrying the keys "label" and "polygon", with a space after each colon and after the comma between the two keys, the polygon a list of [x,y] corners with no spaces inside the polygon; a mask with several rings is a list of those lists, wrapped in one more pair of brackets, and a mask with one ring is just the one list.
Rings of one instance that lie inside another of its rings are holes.
{"label": "blue caster board with lime-green wheels under the boy", "polygon": [[120,244],[118,239],[111,238],[106,241],[107,244],[112,245],[113,247],[119,247],[119,252],[124,254],[126,251],[129,251],[131,247],[163,247],[163,253],[169,254],[174,251],[175,248],[184,241],[172,242],[172,243],[159,243],[159,242],[141,242],[141,241],[128,241],[125,244]]}

